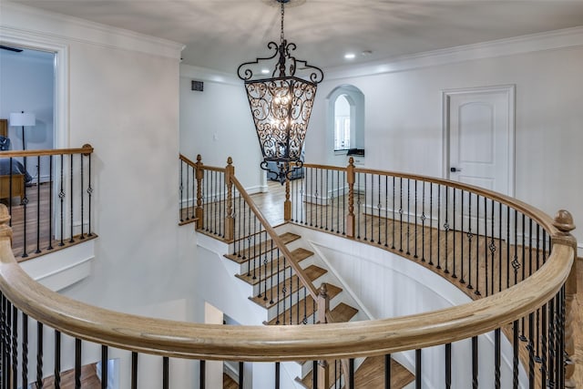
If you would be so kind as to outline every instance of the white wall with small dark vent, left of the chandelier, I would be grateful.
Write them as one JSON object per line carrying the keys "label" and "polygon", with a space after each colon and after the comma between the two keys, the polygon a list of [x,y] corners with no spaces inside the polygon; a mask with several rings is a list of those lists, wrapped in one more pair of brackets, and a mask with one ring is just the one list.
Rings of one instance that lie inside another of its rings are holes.
{"label": "white wall with small dark vent, left of the chandelier", "polygon": [[[180,66],[180,152],[218,167],[231,157],[237,178],[253,193],[265,189],[261,148],[243,81],[233,76]],[[190,90],[193,79],[204,82],[203,92]]]}

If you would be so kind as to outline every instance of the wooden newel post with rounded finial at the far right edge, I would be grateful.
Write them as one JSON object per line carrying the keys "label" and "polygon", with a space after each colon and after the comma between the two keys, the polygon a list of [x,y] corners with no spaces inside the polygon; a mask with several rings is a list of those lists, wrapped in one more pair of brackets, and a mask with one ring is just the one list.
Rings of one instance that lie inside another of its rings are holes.
{"label": "wooden newel post with rounded finial at the far right edge", "polygon": [[568,210],[559,210],[555,215],[553,225],[560,231],[560,235],[553,240],[553,243],[561,243],[571,246],[575,252],[575,261],[569,272],[567,282],[565,282],[565,387],[576,388],[577,384],[573,375],[575,374],[575,363],[571,359],[575,355],[575,340],[573,339],[573,326],[575,325],[575,312],[573,311],[573,300],[577,294],[577,240],[571,231],[575,230],[573,216]]}

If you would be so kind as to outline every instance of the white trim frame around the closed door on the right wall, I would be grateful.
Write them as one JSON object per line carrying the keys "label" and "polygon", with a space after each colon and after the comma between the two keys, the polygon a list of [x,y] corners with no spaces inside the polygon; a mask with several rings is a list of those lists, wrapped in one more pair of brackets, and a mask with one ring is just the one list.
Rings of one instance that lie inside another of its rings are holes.
{"label": "white trim frame around the closed door on the right wall", "polygon": [[507,169],[507,188],[508,192],[503,193],[507,196],[513,197],[515,192],[515,137],[516,137],[516,85],[499,85],[492,87],[462,87],[455,89],[442,90],[442,139],[443,139],[443,178],[450,179],[450,163],[449,163],[449,97],[474,94],[474,93],[506,93],[508,100],[508,135],[506,138],[506,145],[508,147],[508,160],[506,163]]}

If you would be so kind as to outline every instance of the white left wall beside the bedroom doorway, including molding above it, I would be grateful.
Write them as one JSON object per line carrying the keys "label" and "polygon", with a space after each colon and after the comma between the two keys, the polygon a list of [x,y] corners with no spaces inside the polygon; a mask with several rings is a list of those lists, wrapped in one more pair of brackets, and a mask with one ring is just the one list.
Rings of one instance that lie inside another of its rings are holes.
{"label": "white left wall beside the bedroom doorway, including molding above it", "polygon": [[3,42],[64,47],[67,115],[57,130],[70,147],[95,148],[96,261],[68,294],[114,309],[173,299],[181,46],[10,4],[0,22]]}

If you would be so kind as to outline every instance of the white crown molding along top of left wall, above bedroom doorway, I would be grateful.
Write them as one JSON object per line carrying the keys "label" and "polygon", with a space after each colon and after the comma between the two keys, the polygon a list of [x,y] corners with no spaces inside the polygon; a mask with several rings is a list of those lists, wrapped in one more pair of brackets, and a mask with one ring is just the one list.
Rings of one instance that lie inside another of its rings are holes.
{"label": "white crown molding along top of left wall, above bedroom doorway", "polygon": [[[46,42],[80,42],[179,59],[184,45],[123,28],[105,26],[73,16],[56,14],[8,1],[0,3],[0,39],[26,36]],[[66,26],[66,28],[65,28]]]}

